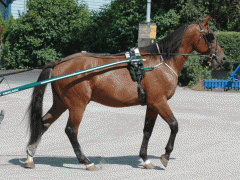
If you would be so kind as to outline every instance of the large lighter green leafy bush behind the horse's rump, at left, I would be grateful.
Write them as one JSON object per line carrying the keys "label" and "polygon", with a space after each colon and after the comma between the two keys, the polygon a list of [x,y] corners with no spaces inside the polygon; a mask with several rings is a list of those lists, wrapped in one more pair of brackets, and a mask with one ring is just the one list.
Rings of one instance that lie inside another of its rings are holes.
{"label": "large lighter green leafy bush behind the horse's rump, at left", "polygon": [[90,13],[76,0],[30,0],[29,11],[4,34],[5,68],[42,66],[81,50]]}

